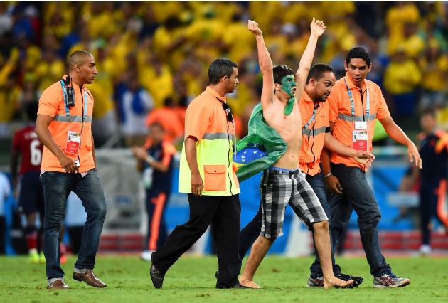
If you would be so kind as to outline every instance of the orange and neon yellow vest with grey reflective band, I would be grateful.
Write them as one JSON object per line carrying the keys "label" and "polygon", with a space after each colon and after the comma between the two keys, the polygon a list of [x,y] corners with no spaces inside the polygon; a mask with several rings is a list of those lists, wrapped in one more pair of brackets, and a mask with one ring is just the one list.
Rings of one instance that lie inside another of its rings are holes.
{"label": "orange and neon yellow vest with grey reflective band", "polygon": [[[223,110],[225,97],[210,86],[194,98],[185,115],[185,138],[195,137],[198,169],[204,181],[205,196],[230,196],[240,193],[233,165],[235,127]],[[232,176],[232,178],[230,178]],[[179,169],[179,191],[191,193],[191,171],[186,161],[185,144]]]}

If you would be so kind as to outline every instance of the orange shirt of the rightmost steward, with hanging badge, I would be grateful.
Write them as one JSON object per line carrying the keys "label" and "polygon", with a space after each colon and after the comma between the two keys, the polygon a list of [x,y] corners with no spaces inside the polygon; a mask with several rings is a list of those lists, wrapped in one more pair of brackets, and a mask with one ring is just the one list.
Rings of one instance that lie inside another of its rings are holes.
{"label": "orange shirt of the rightmost steward, with hanging badge", "polygon": [[[352,117],[351,115],[351,102],[348,98],[347,87],[344,80],[346,80],[348,89],[351,90],[353,95],[355,117]],[[369,120],[366,116],[367,88],[370,95]],[[360,90],[353,84],[351,78],[346,75],[336,81],[327,102],[329,102],[330,106],[330,122],[334,122],[333,136],[342,144],[353,148],[354,121],[366,121],[368,127],[368,151],[372,151],[372,138],[375,131],[376,119],[383,119],[390,116],[388,105],[386,105],[380,87],[370,80],[364,80],[361,98]],[[363,165],[358,164],[353,158],[341,156],[336,153],[331,155],[331,162],[334,164],[345,164],[346,166],[358,166],[361,169],[363,168]]]}

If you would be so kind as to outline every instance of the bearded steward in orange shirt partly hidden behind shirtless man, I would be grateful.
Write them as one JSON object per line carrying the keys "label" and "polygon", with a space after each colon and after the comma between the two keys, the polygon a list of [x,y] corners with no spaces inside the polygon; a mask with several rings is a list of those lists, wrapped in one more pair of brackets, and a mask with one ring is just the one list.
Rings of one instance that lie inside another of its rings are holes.
{"label": "bearded steward in orange shirt partly hidden behind shirtless man", "polygon": [[[373,156],[369,153],[355,151],[344,146],[334,139],[330,134],[329,104],[326,102],[333,85],[336,81],[334,69],[326,64],[316,64],[310,70],[304,92],[299,101],[300,113],[302,115],[302,147],[299,156],[299,168],[306,174],[306,181],[313,188],[319,198],[326,216],[330,218],[329,204],[326,199],[324,179],[321,176],[320,156],[324,146],[331,151],[353,157],[360,163],[370,165]],[[241,230],[240,235],[240,257],[241,259],[250,249],[252,243],[260,235],[261,210]],[[331,226],[330,226],[331,228]],[[351,287],[357,287],[363,282],[362,277],[354,277],[341,272],[341,267],[335,264],[334,255],[333,272],[341,280],[353,280]],[[324,287],[324,277],[319,262],[319,257],[310,268],[311,275],[307,281],[309,287]]]}

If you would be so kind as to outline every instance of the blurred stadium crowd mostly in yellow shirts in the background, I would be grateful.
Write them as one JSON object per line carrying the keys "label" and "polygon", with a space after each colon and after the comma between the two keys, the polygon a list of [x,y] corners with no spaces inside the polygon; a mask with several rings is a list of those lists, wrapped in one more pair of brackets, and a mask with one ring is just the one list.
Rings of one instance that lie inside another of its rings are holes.
{"label": "blurred stadium crowd mostly in yellow shirts in the background", "polygon": [[314,62],[329,63],[340,78],[347,50],[363,46],[373,58],[368,77],[383,89],[398,124],[416,131],[418,110],[435,107],[447,129],[447,9],[443,1],[3,1],[0,138],[11,141],[24,105],[60,79],[78,49],[97,61],[88,87],[98,146],[113,134],[127,146],[142,144],[146,124],[159,122],[180,147],[186,105],[206,87],[203,70],[218,57],[238,63],[240,83],[228,102],[242,137],[261,91],[247,18],[265,29],[274,64],[295,67],[313,16],[327,24]]}

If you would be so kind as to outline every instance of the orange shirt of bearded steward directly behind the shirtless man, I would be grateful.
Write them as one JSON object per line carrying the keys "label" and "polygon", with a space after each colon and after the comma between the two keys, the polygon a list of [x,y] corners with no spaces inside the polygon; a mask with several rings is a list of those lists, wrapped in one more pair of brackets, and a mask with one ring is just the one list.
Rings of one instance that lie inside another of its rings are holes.
{"label": "orange shirt of bearded steward directly behind the shirtless man", "polygon": [[[302,148],[300,149],[299,168],[305,174],[314,176],[321,168],[321,152],[324,148],[325,133],[330,132],[329,103],[313,100],[304,91],[299,101],[302,115]],[[314,109],[316,114],[313,117]],[[307,125],[308,124],[308,125]]]}

